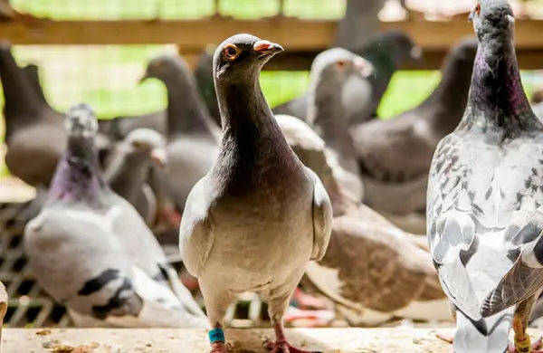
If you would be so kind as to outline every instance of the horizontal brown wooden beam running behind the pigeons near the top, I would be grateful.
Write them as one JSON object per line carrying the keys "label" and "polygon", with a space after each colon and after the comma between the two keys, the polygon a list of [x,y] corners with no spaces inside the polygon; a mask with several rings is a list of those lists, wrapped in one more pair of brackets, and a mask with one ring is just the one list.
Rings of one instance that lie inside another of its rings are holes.
{"label": "horizontal brown wooden beam running behind the pigeons near the top", "polygon": [[[17,20],[0,24],[2,38],[14,44],[164,44],[179,43],[183,50],[220,43],[234,33],[253,33],[281,43],[287,51],[322,50],[332,43],[335,20],[300,20],[271,17],[238,20],[214,16],[198,20],[173,21],[52,21]],[[472,25],[462,17],[448,22],[406,21],[382,23],[380,30],[404,30],[424,49],[444,49],[466,35]],[[518,20],[519,48],[543,48],[543,21]]]}

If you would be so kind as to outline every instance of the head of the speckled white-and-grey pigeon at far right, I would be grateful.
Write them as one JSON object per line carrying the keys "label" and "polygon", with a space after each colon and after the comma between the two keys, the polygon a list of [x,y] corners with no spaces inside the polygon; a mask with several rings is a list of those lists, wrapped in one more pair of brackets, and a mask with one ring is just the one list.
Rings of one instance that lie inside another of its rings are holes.
{"label": "head of the speckled white-and-grey pigeon at far right", "polygon": [[508,0],[478,0],[469,20],[480,40],[489,34],[512,37],[515,17]]}

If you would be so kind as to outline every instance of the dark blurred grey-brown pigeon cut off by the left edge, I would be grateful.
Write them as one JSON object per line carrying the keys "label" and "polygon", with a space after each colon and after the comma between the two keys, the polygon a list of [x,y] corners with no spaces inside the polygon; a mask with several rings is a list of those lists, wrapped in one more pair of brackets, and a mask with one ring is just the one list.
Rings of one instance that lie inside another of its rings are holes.
{"label": "dark blurred grey-brown pigeon cut off by the left edge", "polygon": [[62,114],[41,100],[7,42],[0,43],[0,79],[5,98],[5,164],[24,183],[47,187],[66,145]]}

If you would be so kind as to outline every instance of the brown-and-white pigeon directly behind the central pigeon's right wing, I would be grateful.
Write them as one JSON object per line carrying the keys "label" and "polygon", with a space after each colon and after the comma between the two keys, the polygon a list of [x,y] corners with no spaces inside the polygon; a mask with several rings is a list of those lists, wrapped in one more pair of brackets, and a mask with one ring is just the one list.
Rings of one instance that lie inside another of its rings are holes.
{"label": "brown-and-white pigeon directly behind the central pigeon's right wing", "polygon": [[310,127],[286,115],[275,119],[287,142],[326,187],[334,222],[329,247],[306,276],[350,326],[387,320],[451,320],[426,238],[407,234],[367,205],[351,200],[334,176],[326,144]]}

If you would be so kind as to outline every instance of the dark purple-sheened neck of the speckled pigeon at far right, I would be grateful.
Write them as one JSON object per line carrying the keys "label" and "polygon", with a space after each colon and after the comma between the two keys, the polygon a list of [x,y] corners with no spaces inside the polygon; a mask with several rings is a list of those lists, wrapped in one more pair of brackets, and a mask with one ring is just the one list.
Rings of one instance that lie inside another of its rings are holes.
{"label": "dark purple-sheened neck of the speckled pigeon at far right", "polygon": [[485,33],[475,58],[468,109],[459,128],[530,129],[539,126],[520,81],[512,38]]}

